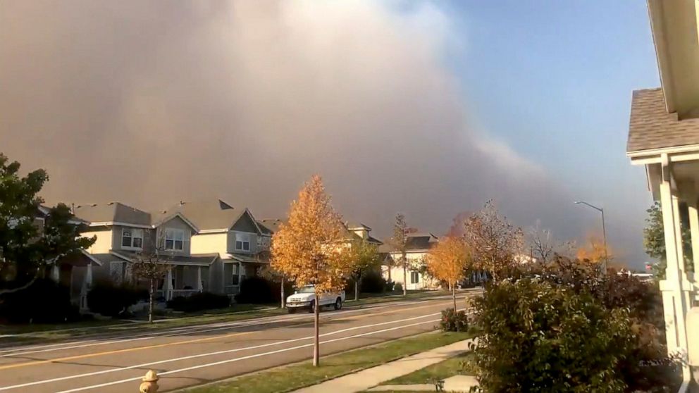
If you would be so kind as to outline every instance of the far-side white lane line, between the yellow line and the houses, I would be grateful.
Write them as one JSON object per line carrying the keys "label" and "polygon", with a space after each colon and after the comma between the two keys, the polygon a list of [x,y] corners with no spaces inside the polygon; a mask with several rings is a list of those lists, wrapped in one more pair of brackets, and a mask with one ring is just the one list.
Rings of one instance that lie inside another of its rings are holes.
{"label": "far-side white lane line, between the yellow line and the houses", "polygon": [[[411,305],[415,304],[416,302],[410,302],[410,303],[403,303],[402,305]],[[359,311],[367,311],[367,310],[378,310],[381,308],[386,308],[388,306],[376,306],[376,307],[371,307],[371,308],[358,308],[358,309],[352,309],[352,310],[342,310],[338,311],[337,313],[334,313],[334,316],[344,316],[349,313],[357,313]],[[216,330],[225,330],[229,328],[241,328],[241,327],[248,327],[248,326],[256,326],[256,325],[268,325],[270,323],[279,323],[279,322],[288,322],[290,320],[304,320],[304,319],[311,319],[311,316],[295,316],[295,317],[271,317],[273,319],[269,320],[264,320],[265,318],[270,318],[270,317],[264,317],[264,318],[255,318],[252,320],[242,320],[242,321],[237,321],[237,322],[230,322],[230,323],[213,323],[209,325],[199,325],[199,326],[194,326],[194,327],[182,327],[182,328],[173,328],[171,330],[165,330],[161,332],[160,334],[155,334],[153,332],[148,332],[143,335],[135,335],[131,336],[129,338],[125,339],[116,339],[116,340],[108,340],[108,341],[99,341],[97,339],[93,340],[85,340],[85,341],[75,341],[75,342],[67,342],[67,343],[61,343],[61,344],[51,344],[51,345],[43,345],[43,346],[36,346],[36,347],[20,347],[20,348],[14,348],[14,349],[5,349],[0,351],[0,358],[4,357],[11,357],[11,356],[21,356],[21,355],[28,355],[28,354],[38,354],[42,352],[51,352],[51,351],[60,351],[62,349],[77,349],[77,348],[84,348],[84,347],[95,347],[97,345],[108,345],[108,344],[119,344],[121,342],[134,342],[134,341],[140,341],[144,339],[157,339],[161,337],[172,337],[175,335],[178,335],[180,333],[186,332],[186,333],[204,333],[204,332],[214,332]],[[328,317],[328,319],[332,319]],[[204,329],[202,329],[204,328]],[[166,334],[162,334],[166,333]],[[73,345],[71,345],[73,344]],[[65,346],[65,347],[61,347]],[[27,351],[21,351],[23,349],[29,349]],[[20,352],[21,351],[21,352]]]}

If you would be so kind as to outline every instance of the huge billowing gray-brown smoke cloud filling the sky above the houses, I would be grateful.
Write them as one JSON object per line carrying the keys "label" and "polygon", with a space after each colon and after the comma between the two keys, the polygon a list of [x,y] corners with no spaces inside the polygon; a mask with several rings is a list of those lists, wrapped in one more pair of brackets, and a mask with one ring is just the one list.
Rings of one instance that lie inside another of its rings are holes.
{"label": "huge billowing gray-brown smoke cloud filling the sky above the houses", "polygon": [[320,173],[377,235],[396,211],[443,233],[490,198],[580,235],[561,185],[469,127],[452,34],[429,4],[3,1],[0,151],[46,168],[50,201],[221,196],[272,218]]}

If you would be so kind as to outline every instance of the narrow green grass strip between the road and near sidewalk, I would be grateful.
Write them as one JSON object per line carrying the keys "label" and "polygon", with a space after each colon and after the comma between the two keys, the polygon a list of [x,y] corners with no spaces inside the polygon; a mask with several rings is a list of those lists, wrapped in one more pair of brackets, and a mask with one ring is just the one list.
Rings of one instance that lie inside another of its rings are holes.
{"label": "narrow green grass strip between the road and near sidewalk", "polygon": [[218,382],[202,387],[187,389],[190,393],[282,393],[309,385],[315,385],[354,373],[365,368],[378,366],[404,356],[417,354],[429,349],[442,347],[452,342],[473,337],[466,332],[438,332],[398,339],[377,346],[355,349],[333,356],[321,358],[321,366],[313,367],[311,362],[283,366],[260,373],[243,375],[233,380]]}

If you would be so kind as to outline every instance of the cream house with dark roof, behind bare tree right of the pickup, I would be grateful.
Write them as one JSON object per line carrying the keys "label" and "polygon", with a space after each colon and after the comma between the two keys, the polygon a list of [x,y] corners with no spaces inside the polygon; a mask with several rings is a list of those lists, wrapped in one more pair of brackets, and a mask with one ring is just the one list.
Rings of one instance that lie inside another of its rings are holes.
{"label": "cream house with dark roof, behind bare tree right of the pickup", "polygon": [[[425,258],[427,253],[435,244],[439,242],[438,237],[431,233],[411,233],[408,235],[405,258],[408,261],[407,268],[407,288],[406,289],[427,289],[438,287],[439,282],[434,280],[429,275],[424,273]],[[394,261],[400,261],[402,258],[400,252],[395,251],[388,244],[380,247],[379,251],[385,256],[383,266],[383,277],[393,282],[400,283],[403,281],[402,266],[395,266]]]}

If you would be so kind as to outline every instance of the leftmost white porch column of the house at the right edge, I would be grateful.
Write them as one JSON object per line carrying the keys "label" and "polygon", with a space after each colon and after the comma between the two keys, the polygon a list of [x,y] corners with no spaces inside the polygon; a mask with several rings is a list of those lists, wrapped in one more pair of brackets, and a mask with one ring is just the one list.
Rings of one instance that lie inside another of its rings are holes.
{"label": "leftmost white porch column of the house at the right edge", "polygon": [[[679,231],[679,209],[676,190],[673,190],[672,172],[667,154],[662,155],[662,179],[660,180],[660,208],[662,209],[662,227],[665,237],[665,254],[667,268],[665,280],[660,282],[662,291],[662,308],[665,319],[665,335],[668,353],[681,351],[686,356],[687,333],[685,316],[688,310],[687,289],[683,288],[684,277]],[[678,247],[679,245],[679,247]]]}

